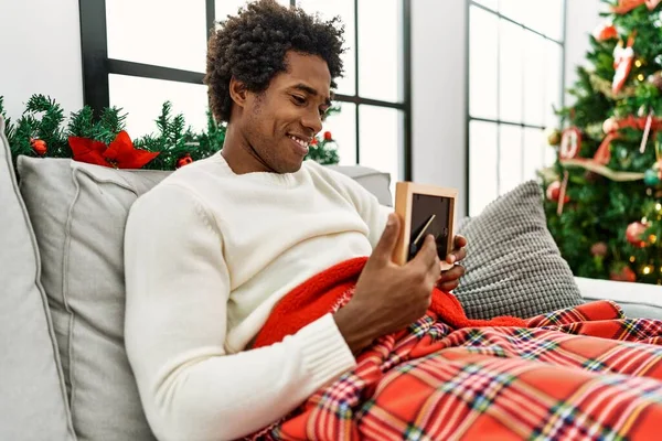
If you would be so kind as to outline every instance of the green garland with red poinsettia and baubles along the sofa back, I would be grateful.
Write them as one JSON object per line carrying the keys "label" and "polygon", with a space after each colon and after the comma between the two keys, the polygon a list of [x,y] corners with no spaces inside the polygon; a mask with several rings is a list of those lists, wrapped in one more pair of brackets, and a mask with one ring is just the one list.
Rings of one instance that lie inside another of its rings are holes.
{"label": "green garland with red poinsettia and baubles along the sofa back", "polygon": [[[327,116],[339,111],[339,107],[332,107]],[[0,115],[7,122],[4,131],[14,165],[23,154],[72,158],[119,169],[174,170],[214,154],[225,141],[225,125],[217,123],[209,110],[207,127],[195,131],[186,126],[183,115],[173,115],[169,101],[163,103],[161,115],[154,119],[154,132],[134,140],[124,132],[127,114],[117,107],[106,108],[95,118],[92,108],[85,106],[65,118],[54,99],[33,95],[14,123],[7,118],[0,96]],[[321,164],[339,162],[331,132],[313,139],[306,159]]]}

